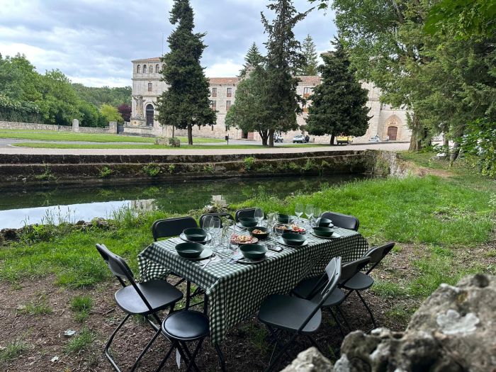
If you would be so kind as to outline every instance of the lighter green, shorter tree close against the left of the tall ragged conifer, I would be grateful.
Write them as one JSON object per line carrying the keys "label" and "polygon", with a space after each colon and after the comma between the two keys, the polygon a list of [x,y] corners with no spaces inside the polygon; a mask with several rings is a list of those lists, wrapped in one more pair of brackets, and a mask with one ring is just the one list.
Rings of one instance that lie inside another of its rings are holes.
{"label": "lighter green, shorter tree close against the left of the tall ragged conifer", "polygon": [[[236,101],[227,111],[225,117],[226,128],[236,126],[244,132],[257,132],[261,137],[261,144],[266,146],[269,140],[269,128],[265,107],[267,73],[256,45],[250,47],[244,67],[244,78],[236,89]],[[251,72],[247,74],[247,69]]]}

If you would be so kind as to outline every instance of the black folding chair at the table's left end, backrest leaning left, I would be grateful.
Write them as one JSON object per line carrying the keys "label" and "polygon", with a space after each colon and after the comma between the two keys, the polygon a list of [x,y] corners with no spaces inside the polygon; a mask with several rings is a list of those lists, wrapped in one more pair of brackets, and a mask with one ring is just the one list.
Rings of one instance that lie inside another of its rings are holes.
{"label": "black folding chair at the table's left end, backrest leaning left", "polygon": [[[112,271],[112,274],[115,275],[119,283],[123,286],[123,288],[120,288],[115,292],[114,297],[115,303],[117,303],[119,308],[127,315],[124,320],[120,322],[118,327],[115,328],[115,331],[113,331],[110,339],[108,339],[104,349],[105,355],[108,361],[111,362],[113,368],[120,372],[120,368],[113,360],[108,349],[113,342],[115,334],[123,327],[124,323],[131,315],[142,315],[155,330],[154,336],[150,342],[148,342],[147,346],[145,346],[145,349],[143,349],[130,369],[130,371],[135,371],[137,364],[160,334],[160,318],[157,315],[157,312],[166,308],[170,308],[170,312],[174,311],[174,305],[183,298],[183,293],[177,288],[174,288],[174,286],[171,286],[167,281],[154,280],[145,283],[136,283],[133,271],[131,271],[122,257],[119,257],[117,254],[108,250],[103,244],[96,244],[96,249],[108,265],[108,269]],[[126,282],[128,284],[126,284]],[[153,317],[157,324],[152,322],[150,317]]]}

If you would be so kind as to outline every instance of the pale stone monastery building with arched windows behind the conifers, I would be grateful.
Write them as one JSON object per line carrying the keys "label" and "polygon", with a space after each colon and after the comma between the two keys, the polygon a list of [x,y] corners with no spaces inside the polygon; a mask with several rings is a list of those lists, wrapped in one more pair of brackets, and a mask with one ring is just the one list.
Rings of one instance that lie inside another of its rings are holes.
{"label": "pale stone monastery building with arched windows behind the conifers", "polygon": [[[159,57],[133,62],[133,114],[130,123],[125,125],[125,133],[139,135],[157,135],[170,137],[171,125],[162,127],[155,118],[157,97],[168,86],[160,81],[162,62]],[[299,77],[298,94],[308,97],[312,89],[320,84],[318,76]],[[210,101],[212,108],[217,111],[216,125],[204,126],[200,129],[193,127],[193,137],[224,138],[229,135],[232,140],[248,139],[259,140],[258,133],[243,133],[237,128],[225,129],[225,115],[236,99],[238,77],[210,77]],[[363,88],[368,90],[367,106],[371,108],[368,115],[372,116],[368,130],[363,137],[354,138],[354,142],[368,142],[371,137],[378,135],[381,140],[389,136],[390,140],[410,141],[411,132],[407,128],[407,117],[404,109],[395,109],[379,102],[380,91],[373,84],[363,83]],[[308,108],[303,108],[303,114],[298,115],[298,124],[301,129],[283,133],[284,142],[291,142],[293,135],[306,134],[305,118]],[[186,135],[186,130],[175,130],[175,135]],[[329,136],[315,137],[310,135],[310,141],[329,143]]]}

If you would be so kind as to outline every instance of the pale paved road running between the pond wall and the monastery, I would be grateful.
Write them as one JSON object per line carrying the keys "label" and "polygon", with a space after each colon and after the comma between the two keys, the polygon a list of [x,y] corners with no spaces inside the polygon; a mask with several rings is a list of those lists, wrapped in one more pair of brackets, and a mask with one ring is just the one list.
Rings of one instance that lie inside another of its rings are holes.
{"label": "pale paved road running between the pond wall and the monastery", "polygon": [[[347,146],[322,146],[322,147],[301,147],[292,145],[291,147],[273,147],[262,148],[254,147],[253,149],[38,149],[30,147],[15,147],[11,146],[15,142],[28,142],[26,140],[11,140],[0,138],[0,154],[108,154],[108,155],[140,155],[140,154],[157,154],[157,155],[205,155],[205,154],[260,154],[260,153],[295,153],[295,152],[319,152],[319,151],[339,151],[339,150],[408,150],[408,143],[404,142],[379,142],[365,143]],[[37,141],[39,142],[39,141]],[[234,143],[233,143],[234,142]],[[238,142],[243,145],[248,143],[245,141],[230,141],[232,145],[237,145]],[[77,142],[81,143],[81,142]],[[115,142],[112,142],[115,143]],[[220,145],[218,143],[217,145]],[[287,144],[286,144],[287,145]]]}

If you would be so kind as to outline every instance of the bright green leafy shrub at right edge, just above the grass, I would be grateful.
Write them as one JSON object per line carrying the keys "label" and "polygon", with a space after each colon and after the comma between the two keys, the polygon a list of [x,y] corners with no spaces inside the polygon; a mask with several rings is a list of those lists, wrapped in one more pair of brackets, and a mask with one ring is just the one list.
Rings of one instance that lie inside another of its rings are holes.
{"label": "bright green leafy shrub at right edge, just above the grass", "polygon": [[464,151],[478,159],[484,176],[496,177],[496,122],[479,119],[468,123],[466,136],[461,140]]}

